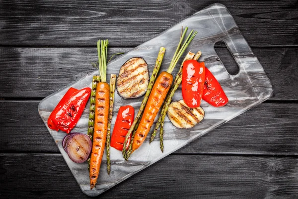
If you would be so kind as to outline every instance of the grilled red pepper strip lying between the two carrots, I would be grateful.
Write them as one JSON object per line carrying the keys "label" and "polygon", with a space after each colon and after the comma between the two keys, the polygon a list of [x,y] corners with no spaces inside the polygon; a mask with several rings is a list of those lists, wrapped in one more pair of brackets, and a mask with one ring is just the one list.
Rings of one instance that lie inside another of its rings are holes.
{"label": "grilled red pepper strip lying between the two carrots", "polygon": [[[129,131],[132,123],[135,118],[135,109],[131,105],[121,106],[119,108],[116,122],[113,129],[113,134],[111,137],[111,147],[114,147],[117,150],[122,151],[123,143],[126,134]],[[129,147],[132,136],[128,139],[126,146]]]}

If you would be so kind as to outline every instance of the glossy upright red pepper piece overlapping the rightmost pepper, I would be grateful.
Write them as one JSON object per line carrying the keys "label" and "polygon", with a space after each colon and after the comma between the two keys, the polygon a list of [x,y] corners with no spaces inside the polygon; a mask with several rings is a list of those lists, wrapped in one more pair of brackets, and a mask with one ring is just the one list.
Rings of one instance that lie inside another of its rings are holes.
{"label": "glossy upright red pepper piece overlapping the rightmost pepper", "polygon": [[191,108],[199,107],[205,82],[205,64],[187,60],[182,68],[182,98]]}

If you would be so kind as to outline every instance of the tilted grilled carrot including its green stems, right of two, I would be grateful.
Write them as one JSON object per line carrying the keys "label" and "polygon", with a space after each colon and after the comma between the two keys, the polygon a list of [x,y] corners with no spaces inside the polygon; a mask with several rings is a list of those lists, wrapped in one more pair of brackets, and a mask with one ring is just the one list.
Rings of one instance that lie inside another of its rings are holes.
{"label": "tilted grilled carrot including its green stems, right of two", "polygon": [[[149,99],[147,101],[145,110],[143,112],[141,121],[139,123],[139,126],[136,130],[135,135],[133,134],[132,148],[130,148],[130,151],[128,151],[128,154],[127,154],[128,157],[130,156],[130,154],[132,152],[137,150],[142,145],[142,143],[145,141],[145,139],[150,131],[150,128],[153,124],[153,121],[158,113],[158,110],[160,109],[160,107],[163,103],[163,100],[165,99],[165,97],[171,87],[171,84],[173,82],[173,76],[171,75],[171,73],[173,72],[175,65],[177,64],[178,60],[182,56],[186,47],[190,44],[190,42],[193,40],[193,38],[197,34],[196,31],[194,32],[192,30],[190,32],[190,34],[188,35],[187,39],[185,40],[184,44],[180,48],[180,44],[182,43],[183,37],[186,34],[187,29],[188,28],[186,27],[186,29],[184,30],[184,32],[180,38],[178,47],[176,49],[176,52],[173,56],[173,59],[170,63],[168,70],[166,72],[165,71],[161,72],[153,85],[152,91],[151,91]],[[194,34],[193,34],[193,32],[194,32]]]}

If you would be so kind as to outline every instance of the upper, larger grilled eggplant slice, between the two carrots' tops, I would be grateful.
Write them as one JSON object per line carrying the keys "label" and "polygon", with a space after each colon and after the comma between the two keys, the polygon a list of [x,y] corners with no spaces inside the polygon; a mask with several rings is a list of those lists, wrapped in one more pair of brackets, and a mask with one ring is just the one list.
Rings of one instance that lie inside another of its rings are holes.
{"label": "upper, larger grilled eggplant slice, between the two carrots' tops", "polygon": [[146,61],[141,57],[127,60],[120,68],[116,88],[124,98],[139,98],[143,96],[149,84],[149,71]]}

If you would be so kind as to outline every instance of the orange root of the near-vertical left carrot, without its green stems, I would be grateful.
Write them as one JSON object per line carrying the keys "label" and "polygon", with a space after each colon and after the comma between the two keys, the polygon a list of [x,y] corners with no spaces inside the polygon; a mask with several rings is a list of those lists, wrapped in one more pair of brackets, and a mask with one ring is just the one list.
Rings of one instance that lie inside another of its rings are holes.
{"label": "orange root of the near-vertical left carrot, without its green stems", "polygon": [[98,83],[95,99],[94,133],[89,173],[90,189],[94,188],[96,184],[107,138],[110,105],[110,86],[108,83]]}

